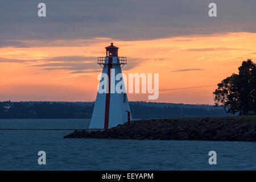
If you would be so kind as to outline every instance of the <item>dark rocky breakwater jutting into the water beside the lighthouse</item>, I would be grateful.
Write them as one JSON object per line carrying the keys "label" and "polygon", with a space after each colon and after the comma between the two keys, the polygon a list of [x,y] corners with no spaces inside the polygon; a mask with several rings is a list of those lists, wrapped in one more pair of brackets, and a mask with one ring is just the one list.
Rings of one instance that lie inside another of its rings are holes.
{"label": "dark rocky breakwater jutting into the water beside the lighthouse", "polygon": [[64,138],[256,141],[256,121],[242,117],[142,119],[104,131],[75,130]]}

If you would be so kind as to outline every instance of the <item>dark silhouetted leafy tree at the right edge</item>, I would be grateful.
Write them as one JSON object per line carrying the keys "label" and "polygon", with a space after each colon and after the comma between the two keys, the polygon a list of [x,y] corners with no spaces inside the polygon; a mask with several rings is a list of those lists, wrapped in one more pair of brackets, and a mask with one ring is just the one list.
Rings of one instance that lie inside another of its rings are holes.
{"label": "dark silhouetted leafy tree at the right edge", "polygon": [[243,61],[239,73],[222,80],[213,92],[215,106],[224,107],[227,113],[248,114],[256,111],[256,64]]}

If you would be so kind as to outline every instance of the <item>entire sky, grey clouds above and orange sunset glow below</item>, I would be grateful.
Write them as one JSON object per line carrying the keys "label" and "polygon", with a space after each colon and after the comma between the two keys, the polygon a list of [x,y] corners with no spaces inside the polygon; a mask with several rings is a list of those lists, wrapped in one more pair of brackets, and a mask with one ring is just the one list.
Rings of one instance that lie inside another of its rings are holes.
{"label": "entire sky, grey clouds above and orange sunset glow below", "polygon": [[[46,17],[38,4],[46,3]],[[217,17],[209,17],[215,2]],[[217,85],[256,60],[256,1],[14,1],[0,6],[0,101],[94,101],[111,42],[123,73],[159,73],[157,100],[213,104]]]}

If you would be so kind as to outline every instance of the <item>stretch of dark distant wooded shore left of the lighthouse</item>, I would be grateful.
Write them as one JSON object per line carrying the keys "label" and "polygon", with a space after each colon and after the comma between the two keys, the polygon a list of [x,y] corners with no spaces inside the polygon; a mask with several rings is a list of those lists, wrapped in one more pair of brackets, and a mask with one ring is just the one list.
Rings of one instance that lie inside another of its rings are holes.
{"label": "stretch of dark distant wooded shore left of the lighthouse", "polygon": [[90,118],[93,111],[92,105],[80,106],[73,102],[0,102],[0,106],[2,119]]}

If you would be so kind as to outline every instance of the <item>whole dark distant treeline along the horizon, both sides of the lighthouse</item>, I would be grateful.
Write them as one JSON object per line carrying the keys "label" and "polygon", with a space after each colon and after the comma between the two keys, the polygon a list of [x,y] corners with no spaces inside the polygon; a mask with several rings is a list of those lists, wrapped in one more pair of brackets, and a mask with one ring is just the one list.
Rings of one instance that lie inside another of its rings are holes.
{"label": "whole dark distant treeline along the horizon, both sides of the lighthouse", "polygon": [[[223,116],[224,109],[209,105],[130,102],[133,118],[184,118]],[[90,119],[94,102],[0,102],[0,119]]]}

